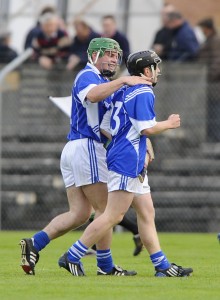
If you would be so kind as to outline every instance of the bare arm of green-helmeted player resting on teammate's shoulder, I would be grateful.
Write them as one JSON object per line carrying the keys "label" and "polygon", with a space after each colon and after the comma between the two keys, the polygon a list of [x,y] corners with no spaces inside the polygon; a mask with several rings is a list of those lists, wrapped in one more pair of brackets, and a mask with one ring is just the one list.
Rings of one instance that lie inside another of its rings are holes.
{"label": "bare arm of green-helmeted player resting on teammate's shoulder", "polygon": [[113,94],[123,85],[152,84],[148,78],[139,76],[123,76],[110,82],[102,83],[92,88],[86,98],[90,102],[99,102]]}

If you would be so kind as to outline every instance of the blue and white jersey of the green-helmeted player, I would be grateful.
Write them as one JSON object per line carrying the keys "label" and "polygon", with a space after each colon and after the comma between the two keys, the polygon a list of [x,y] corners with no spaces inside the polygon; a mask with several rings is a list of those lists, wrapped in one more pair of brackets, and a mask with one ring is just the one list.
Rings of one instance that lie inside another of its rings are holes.
{"label": "blue and white jersey of the green-helmeted player", "polygon": [[97,142],[106,141],[106,138],[100,133],[100,123],[111,97],[98,103],[91,103],[87,101],[86,95],[96,85],[108,81],[90,63],[87,63],[86,67],[76,76],[72,87],[69,140],[91,138]]}

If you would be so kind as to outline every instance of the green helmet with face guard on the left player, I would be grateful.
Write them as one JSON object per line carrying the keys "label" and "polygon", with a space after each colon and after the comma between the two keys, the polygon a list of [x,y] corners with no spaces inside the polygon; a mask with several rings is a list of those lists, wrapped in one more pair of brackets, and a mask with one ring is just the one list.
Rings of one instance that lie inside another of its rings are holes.
{"label": "green helmet with face guard on the left player", "polygon": [[[94,38],[91,40],[88,50],[87,50],[87,54],[88,54],[88,60],[91,64],[95,65],[98,61],[98,58],[103,57],[105,55],[105,52],[110,52],[110,56],[111,56],[111,52],[116,52],[118,54],[118,63],[117,65],[121,64],[122,61],[122,50],[118,44],[118,42],[116,42],[113,39],[109,39],[109,38]],[[92,59],[92,54],[96,53],[96,59],[93,61]],[[112,77],[115,72],[116,72],[116,68],[117,65],[115,66],[115,71],[111,71],[109,69],[109,62],[103,62],[102,64],[102,70],[101,74],[107,77]]]}

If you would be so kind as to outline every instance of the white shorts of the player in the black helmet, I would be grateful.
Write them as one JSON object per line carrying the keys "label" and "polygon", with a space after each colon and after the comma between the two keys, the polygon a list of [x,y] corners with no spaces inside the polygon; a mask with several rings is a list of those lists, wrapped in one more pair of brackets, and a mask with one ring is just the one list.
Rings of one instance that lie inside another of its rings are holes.
{"label": "white shorts of the player in the black helmet", "polygon": [[137,177],[131,178],[125,175],[118,174],[114,171],[109,171],[108,192],[120,190],[140,195],[150,193],[147,174],[144,178],[144,182],[141,183]]}

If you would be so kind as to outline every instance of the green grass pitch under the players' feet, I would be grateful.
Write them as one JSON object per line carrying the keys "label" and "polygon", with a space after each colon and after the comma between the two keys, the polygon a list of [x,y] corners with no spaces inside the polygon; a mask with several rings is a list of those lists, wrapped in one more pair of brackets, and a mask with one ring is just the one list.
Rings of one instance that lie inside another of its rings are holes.
{"label": "green grass pitch under the players' feet", "polygon": [[133,257],[132,235],[115,233],[112,243],[114,261],[135,269],[135,277],[96,275],[94,256],[83,258],[86,277],[73,277],[59,269],[59,256],[79,236],[69,233],[42,251],[35,276],[24,275],[19,266],[20,238],[32,232],[0,232],[0,299],[220,299],[220,245],[216,234],[160,234],[162,249],[171,262],[193,267],[189,278],[155,278],[149,256],[143,251]]}

